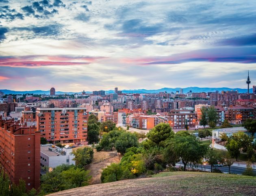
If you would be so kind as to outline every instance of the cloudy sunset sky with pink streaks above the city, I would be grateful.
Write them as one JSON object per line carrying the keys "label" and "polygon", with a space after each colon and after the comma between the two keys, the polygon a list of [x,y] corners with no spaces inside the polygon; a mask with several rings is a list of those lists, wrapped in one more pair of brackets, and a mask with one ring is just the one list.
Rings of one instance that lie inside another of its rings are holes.
{"label": "cloudy sunset sky with pink streaks above the city", "polygon": [[0,89],[256,85],[256,1],[0,0]]}

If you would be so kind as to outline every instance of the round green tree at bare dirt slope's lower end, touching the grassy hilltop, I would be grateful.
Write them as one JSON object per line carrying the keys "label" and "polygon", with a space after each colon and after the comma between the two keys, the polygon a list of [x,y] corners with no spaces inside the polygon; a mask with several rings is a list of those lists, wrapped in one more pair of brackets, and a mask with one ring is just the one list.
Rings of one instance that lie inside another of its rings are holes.
{"label": "round green tree at bare dirt slope's lower end, touching the grassy hilltop", "polygon": [[101,182],[115,182],[121,179],[122,169],[120,164],[111,163],[110,166],[107,166],[102,170],[101,173]]}

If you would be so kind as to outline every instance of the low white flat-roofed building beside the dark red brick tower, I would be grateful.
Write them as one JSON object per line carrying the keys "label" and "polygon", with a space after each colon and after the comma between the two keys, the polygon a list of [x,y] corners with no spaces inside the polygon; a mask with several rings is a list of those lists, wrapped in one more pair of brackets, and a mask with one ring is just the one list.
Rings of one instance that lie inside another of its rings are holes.
{"label": "low white flat-roofed building beside the dark red brick tower", "polygon": [[56,166],[66,164],[72,165],[76,164],[74,155],[72,153],[72,148],[66,145],[64,148],[59,148],[58,146],[52,144],[46,144],[40,146],[40,166],[55,168]]}

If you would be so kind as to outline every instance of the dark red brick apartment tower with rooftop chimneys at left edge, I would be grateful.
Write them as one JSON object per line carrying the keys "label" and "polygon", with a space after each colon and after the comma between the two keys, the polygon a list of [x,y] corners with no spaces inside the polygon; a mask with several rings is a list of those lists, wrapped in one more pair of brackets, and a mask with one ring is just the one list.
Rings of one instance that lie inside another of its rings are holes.
{"label": "dark red brick apartment tower with rooftop chimneys at left edge", "polygon": [[28,190],[40,186],[40,132],[0,118],[0,164],[12,183],[22,178]]}

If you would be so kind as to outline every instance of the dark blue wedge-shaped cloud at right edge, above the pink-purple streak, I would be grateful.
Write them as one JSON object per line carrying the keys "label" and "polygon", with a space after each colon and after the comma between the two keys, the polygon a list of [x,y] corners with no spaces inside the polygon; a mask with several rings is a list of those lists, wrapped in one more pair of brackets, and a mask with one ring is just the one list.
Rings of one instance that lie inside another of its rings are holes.
{"label": "dark blue wedge-shaped cloud at right edge, above the pink-purple streak", "polygon": [[233,45],[233,46],[253,46],[256,45],[256,33],[223,39],[217,42],[218,45]]}

